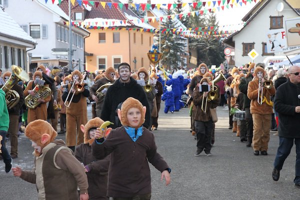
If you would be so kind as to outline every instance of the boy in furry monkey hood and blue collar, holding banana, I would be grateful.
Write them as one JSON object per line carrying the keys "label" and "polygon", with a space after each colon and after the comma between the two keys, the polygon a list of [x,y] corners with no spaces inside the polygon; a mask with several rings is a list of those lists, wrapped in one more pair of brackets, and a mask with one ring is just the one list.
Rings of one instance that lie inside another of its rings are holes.
{"label": "boy in furry monkey hood and blue collar, holding banana", "polygon": [[146,107],[137,99],[128,97],[117,110],[122,126],[104,139],[97,128],[92,154],[103,159],[111,153],[108,169],[107,195],[112,199],[150,199],[151,176],[148,161],[161,172],[166,185],[170,182],[171,169],[157,153],[154,135],[143,127]]}

